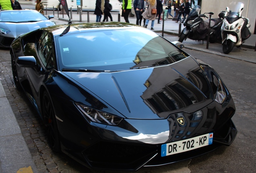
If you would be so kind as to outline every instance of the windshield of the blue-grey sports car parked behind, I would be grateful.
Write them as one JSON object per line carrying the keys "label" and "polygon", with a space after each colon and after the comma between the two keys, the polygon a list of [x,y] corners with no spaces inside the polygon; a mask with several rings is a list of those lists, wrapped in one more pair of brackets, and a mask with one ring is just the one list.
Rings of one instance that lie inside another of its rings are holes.
{"label": "windshield of the blue-grey sports car parked behind", "polygon": [[35,10],[6,10],[0,12],[0,22],[37,22],[47,20],[43,14]]}

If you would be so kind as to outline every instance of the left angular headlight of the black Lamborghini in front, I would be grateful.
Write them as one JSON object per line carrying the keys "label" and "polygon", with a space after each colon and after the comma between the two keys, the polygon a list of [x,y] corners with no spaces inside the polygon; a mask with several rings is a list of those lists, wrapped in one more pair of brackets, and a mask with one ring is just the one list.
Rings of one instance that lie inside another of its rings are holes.
{"label": "left angular headlight of the black Lamborghini in front", "polygon": [[76,103],[76,106],[86,118],[89,118],[90,121],[93,121],[95,123],[117,126],[122,121],[122,118],[115,115],[110,115],[108,113],[98,111],[96,109],[78,103]]}

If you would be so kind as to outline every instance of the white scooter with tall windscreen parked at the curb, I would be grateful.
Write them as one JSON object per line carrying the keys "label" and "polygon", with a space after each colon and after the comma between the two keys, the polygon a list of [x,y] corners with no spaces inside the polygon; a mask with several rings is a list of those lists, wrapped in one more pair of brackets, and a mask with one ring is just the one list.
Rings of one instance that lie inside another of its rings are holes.
{"label": "white scooter with tall windscreen parked at the curb", "polygon": [[244,4],[234,2],[234,6],[230,9],[226,8],[225,19],[221,27],[222,50],[225,54],[231,52],[234,46],[241,47],[244,41],[251,36],[249,19],[242,17]]}

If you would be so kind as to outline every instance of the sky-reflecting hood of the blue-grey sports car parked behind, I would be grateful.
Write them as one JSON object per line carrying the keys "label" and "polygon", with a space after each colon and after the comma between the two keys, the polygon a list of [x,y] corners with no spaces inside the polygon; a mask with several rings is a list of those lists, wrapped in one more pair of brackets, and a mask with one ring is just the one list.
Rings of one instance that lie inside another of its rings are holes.
{"label": "sky-reflecting hood of the blue-grey sports car parked behind", "polygon": [[8,29],[10,31],[8,34],[4,34],[4,36],[13,38],[30,31],[52,25],[55,25],[54,21],[52,20],[26,23],[0,22],[0,28]]}

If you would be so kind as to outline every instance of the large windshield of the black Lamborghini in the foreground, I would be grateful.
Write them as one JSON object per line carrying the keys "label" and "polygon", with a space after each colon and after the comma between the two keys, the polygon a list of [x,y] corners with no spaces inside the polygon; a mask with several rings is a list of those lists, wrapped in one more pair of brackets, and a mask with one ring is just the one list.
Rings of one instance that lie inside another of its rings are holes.
{"label": "large windshield of the black Lamborghini in the foreground", "polygon": [[188,56],[147,29],[117,29],[56,37],[60,70],[119,71],[172,64]]}

